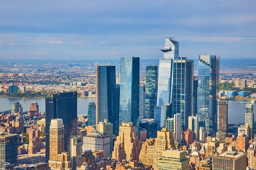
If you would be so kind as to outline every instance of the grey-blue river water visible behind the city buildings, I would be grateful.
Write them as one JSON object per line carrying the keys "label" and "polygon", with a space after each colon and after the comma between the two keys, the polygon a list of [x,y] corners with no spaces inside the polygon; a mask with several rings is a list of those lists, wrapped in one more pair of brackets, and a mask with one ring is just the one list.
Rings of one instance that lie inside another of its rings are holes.
{"label": "grey-blue river water visible behind the city buildings", "polygon": [[[5,98],[0,97],[0,111],[10,110],[11,105],[14,102],[20,102],[23,107],[23,111],[29,110],[31,102],[37,102],[39,111],[45,112],[45,99],[17,99],[17,98]],[[88,103],[95,102],[95,98],[79,98],[77,99],[77,114],[87,114]],[[243,102],[243,103],[236,103]],[[245,123],[245,102],[250,103],[249,100],[234,99],[228,101],[228,123],[229,124],[241,124]],[[254,104],[254,108],[256,104]],[[255,120],[254,120],[255,121]]]}

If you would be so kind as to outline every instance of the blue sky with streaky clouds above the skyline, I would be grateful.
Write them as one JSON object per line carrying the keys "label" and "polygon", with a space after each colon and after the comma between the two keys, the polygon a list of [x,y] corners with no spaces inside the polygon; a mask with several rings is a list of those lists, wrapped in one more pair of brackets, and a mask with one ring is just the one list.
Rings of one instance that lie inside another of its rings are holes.
{"label": "blue sky with streaky clouds above the skyline", "polygon": [[0,59],[256,58],[255,0],[0,0]]}

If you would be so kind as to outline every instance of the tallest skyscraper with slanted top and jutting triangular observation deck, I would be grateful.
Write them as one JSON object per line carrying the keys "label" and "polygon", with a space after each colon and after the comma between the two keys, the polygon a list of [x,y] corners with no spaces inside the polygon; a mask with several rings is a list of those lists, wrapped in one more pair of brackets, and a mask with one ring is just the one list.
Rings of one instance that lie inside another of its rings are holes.
{"label": "tallest skyscraper with slanted top and jutting triangular observation deck", "polygon": [[[161,49],[161,51],[164,52],[164,58],[159,60],[157,106],[155,106],[154,110],[157,129],[164,127],[167,117],[173,117],[172,113],[164,113],[164,104],[170,104],[168,109],[172,110],[173,60],[179,57],[179,42],[166,37],[164,49]],[[159,119],[160,117],[161,119]]]}

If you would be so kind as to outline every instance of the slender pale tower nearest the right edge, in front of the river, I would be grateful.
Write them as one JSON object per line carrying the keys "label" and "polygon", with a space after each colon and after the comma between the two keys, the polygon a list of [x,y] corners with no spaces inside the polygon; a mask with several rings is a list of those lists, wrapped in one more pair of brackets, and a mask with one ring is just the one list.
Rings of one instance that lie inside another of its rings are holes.
{"label": "slender pale tower nearest the right edge, in front of the river", "polygon": [[250,138],[254,139],[254,111],[253,104],[245,105],[245,125],[250,127]]}

